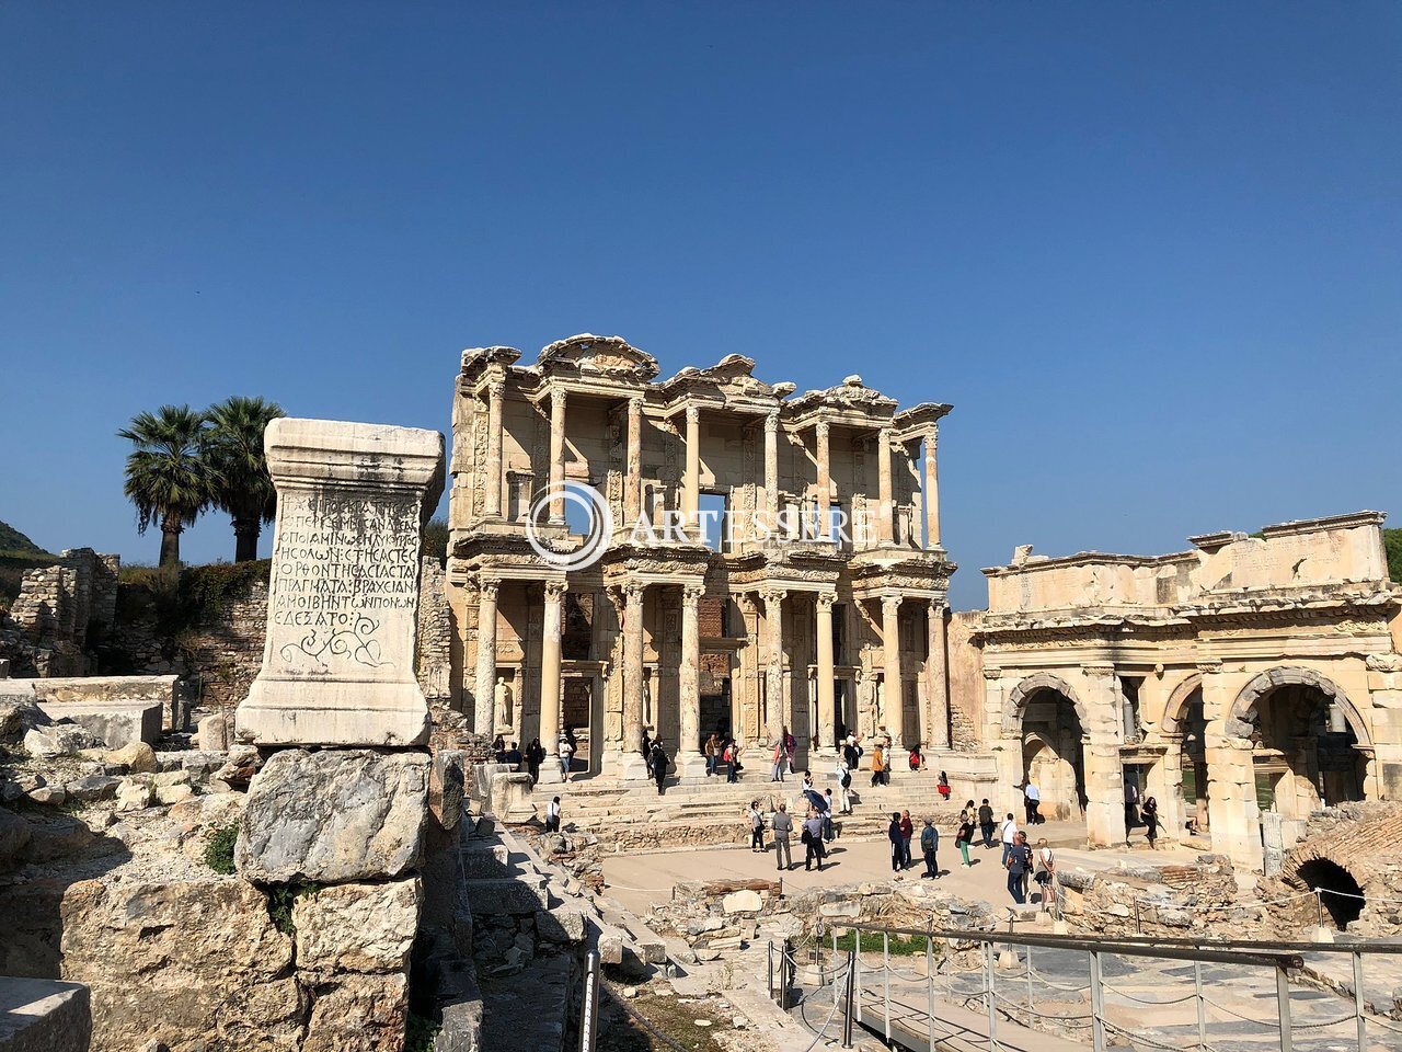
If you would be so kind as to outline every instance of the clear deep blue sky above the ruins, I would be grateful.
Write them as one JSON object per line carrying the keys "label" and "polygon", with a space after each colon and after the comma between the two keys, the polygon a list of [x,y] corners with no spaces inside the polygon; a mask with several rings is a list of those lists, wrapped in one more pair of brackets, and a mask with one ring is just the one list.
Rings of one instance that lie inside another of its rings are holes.
{"label": "clear deep blue sky above the ruins", "polygon": [[0,519],[154,561],[136,411],[446,431],[461,348],[580,331],[953,403],[956,607],[1402,515],[1399,129],[1395,3],[11,0]]}

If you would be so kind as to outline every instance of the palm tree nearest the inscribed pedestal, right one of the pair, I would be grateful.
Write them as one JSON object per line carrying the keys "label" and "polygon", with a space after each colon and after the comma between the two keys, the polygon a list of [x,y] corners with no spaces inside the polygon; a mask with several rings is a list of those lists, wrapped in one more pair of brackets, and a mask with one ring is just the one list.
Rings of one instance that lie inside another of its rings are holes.
{"label": "palm tree nearest the inscribed pedestal, right one of the pair", "polygon": [[234,520],[236,562],[258,558],[258,534],[278,511],[262,435],[269,422],[286,415],[278,403],[241,394],[205,414],[210,424],[210,463],[219,474],[215,504]]}

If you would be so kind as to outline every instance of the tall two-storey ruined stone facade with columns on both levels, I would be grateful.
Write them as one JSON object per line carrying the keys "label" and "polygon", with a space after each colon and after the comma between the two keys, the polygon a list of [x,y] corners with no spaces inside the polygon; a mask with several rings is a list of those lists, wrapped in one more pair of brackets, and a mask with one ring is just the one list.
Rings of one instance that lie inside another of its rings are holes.
{"label": "tall two-storey ruined stone facade with columns on both levels", "polygon": [[[857,376],[792,397],[737,353],[658,380],[656,359],[620,337],[519,360],[465,351],[453,411],[453,686],[478,731],[523,746],[538,735],[547,774],[559,727],[582,718],[592,766],[601,756],[625,774],[644,729],[683,776],[698,773],[721,721],[751,748],[788,727],[801,759],[838,727],[948,745],[955,567],[939,546],[935,453],[949,405],[899,411]],[[526,544],[526,525],[534,515],[545,547],[578,546],[564,501],[537,505],[565,483],[596,488],[618,533],[672,520],[680,534],[615,533],[601,564],[562,575]],[[733,527],[718,551],[702,494]],[[833,529],[838,509],[850,540]],[[587,656],[557,656],[558,626],[585,607]],[[728,624],[725,637],[702,635],[702,617]],[[899,706],[885,683],[900,685]]]}

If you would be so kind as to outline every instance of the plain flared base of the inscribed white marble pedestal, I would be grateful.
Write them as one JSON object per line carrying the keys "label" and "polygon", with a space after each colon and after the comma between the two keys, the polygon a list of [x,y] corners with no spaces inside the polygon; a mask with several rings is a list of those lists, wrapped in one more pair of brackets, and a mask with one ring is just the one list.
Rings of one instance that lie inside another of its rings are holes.
{"label": "plain flared base of the inscribed white marble pedestal", "polygon": [[234,714],[255,745],[423,745],[429,707],[418,683],[257,679]]}

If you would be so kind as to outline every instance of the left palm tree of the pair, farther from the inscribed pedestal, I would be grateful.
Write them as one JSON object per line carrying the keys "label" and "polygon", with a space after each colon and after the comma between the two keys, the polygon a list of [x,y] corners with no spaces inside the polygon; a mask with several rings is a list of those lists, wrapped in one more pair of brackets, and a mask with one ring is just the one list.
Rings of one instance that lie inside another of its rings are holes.
{"label": "left palm tree of the pair, farther from the inscribed pedestal", "polygon": [[136,529],[158,522],[161,565],[179,565],[179,534],[193,526],[215,494],[215,471],[205,456],[205,414],[189,405],[140,412],[116,432],[136,449],[126,456],[123,492],[136,505]]}

